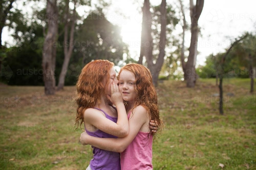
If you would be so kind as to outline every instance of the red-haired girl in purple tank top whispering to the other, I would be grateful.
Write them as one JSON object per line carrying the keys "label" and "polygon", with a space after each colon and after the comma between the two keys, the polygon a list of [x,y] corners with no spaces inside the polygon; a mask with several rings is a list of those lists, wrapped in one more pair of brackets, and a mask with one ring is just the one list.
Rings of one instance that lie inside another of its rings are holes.
{"label": "red-haired girl in purple tank top whispering to the other", "polygon": [[[81,71],[77,87],[76,124],[84,122],[86,132],[98,138],[117,138],[128,134],[128,119],[118,89],[114,64],[108,60],[92,61]],[[116,106],[113,107],[112,103]],[[119,170],[120,154],[98,147],[87,169]]]}

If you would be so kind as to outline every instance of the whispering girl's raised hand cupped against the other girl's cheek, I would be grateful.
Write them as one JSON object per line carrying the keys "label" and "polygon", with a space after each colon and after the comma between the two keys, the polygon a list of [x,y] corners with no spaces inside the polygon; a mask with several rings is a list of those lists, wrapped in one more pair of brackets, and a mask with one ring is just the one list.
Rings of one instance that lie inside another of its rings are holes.
{"label": "whispering girl's raised hand cupped against the other girl's cheek", "polygon": [[107,98],[115,105],[118,103],[123,103],[122,95],[119,91],[118,85],[113,82],[110,86],[110,94],[111,96],[107,96]]}

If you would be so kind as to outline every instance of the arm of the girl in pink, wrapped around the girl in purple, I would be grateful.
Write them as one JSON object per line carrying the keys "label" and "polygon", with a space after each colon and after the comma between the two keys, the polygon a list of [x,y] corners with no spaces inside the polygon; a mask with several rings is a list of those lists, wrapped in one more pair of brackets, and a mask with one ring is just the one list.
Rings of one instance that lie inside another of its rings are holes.
{"label": "arm of the girl in pink, wrapped around the girl in purple", "polygon": [[83,145],[89,144],[94,147],[114,152],[123,152],[133,141],[141,127],[148,121],[146,109],[138,106],[134,109],[129,119],[129,134],[122,138],[97,138],[82,133],[80,141]]}

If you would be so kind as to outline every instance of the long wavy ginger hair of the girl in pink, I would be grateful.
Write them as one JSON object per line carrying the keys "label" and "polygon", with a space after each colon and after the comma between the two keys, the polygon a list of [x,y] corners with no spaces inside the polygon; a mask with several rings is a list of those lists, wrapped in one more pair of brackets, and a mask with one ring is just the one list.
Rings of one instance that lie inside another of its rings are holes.
{"label": "long wavy ginger hair of the girl in pink", "polygon": [[[119,80],[120,73],[123,70],[132,72],[135,75],[134,89],[137,92],[134,108],[142,105],[150,116],[150,120],[154,120],[158,124],[157,132],[161,133],[164,127],[163,120],[159,116],[157,106],[157,93],[153,84],[150,71],[140,64],[127,64],[121,68],[117,79]],[[125,105],[127,102],[125,101]],[[134,109],[133,108],[133,109]],[[155,135],[155,134],[153,134]]]}

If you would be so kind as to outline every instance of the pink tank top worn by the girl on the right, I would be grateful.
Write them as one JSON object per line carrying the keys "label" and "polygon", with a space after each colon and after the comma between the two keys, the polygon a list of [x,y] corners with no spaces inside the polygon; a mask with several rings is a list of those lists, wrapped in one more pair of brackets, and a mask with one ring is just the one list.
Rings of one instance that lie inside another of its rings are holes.
{"label": "pink tank top worn by the girl on the right", "polygon": [[[128,114],[128,120],[130,119]],[[120,154],[121,170],[148,170],[152,165],[152,133],[138,132],[130,145]]]}

